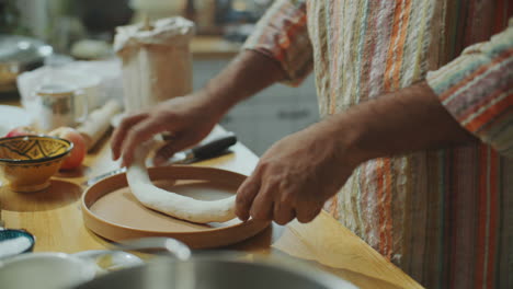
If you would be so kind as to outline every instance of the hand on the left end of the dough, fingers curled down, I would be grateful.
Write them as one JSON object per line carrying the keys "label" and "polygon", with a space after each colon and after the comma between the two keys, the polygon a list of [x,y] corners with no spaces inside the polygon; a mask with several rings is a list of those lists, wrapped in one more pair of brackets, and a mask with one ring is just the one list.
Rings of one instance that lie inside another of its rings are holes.
{"label": "hand on the left end of the dough, fingers curled down", "polygon": [[164,163],[175,152],[191,147],[210,132],[223,116],[204,93],[171,99],[149,109],[125,117],[112,139],[112,157],[130,165],[136,147],[160,132],[170,132],[172,140],[163,146],[153,160]]}

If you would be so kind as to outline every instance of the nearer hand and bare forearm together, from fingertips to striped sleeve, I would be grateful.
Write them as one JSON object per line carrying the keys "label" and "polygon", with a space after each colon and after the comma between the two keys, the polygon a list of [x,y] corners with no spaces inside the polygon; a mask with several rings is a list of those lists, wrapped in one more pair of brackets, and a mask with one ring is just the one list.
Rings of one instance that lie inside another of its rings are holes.
{"label": "nearer hand and bare forearm together, from fingertips to striped sleeve", "polygon": [[330,116],[271,147],[237,192],[236,213],[312,220],[360,163],[476,141],[425,82]]}

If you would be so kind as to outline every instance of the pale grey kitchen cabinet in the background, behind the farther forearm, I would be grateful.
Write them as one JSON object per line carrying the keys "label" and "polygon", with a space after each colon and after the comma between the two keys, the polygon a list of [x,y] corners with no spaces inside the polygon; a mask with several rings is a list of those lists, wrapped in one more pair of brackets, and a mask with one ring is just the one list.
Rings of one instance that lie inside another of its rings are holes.
{"label": "pale grey kitchen cabinet in the background, behind the farther forearm", "polygon": [[[194,60],[194,89],[201,89],[228,63],[229,59]],[[319,119],[316,95],[312,76],[299,88],[275,84],[239,103],[221,119],[221,125],[262,155],[274,142]]]}

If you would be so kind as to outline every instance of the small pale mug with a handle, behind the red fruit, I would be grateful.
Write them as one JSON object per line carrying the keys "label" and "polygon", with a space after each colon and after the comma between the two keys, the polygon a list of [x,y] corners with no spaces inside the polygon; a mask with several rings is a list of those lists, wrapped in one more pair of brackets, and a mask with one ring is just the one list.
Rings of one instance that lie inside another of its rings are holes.
{"label": "small pale mug with a handle, behind the red fruit", "polygon": [[[61,126],[73,127],[77,123],[84,122],[88,116],[88,101],[84,100],[86,94],[80,90],[62,84],[44,84],[36,90],[35,94],[41,104],[38,125],[44,130]],[[79,97],[82,97],[80,102],[78,102]]]}

